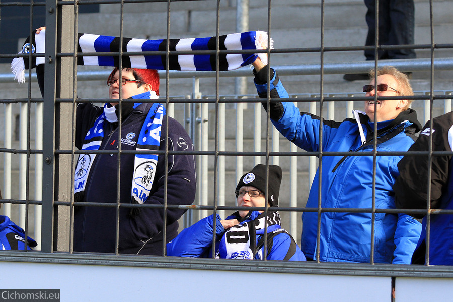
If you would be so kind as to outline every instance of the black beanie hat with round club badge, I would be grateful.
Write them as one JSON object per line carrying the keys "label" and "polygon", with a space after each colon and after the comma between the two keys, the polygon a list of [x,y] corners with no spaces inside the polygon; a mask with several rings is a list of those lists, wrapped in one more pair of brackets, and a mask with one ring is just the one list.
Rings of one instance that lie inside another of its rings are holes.
{"label": "black beanie hat with round club badge", "polygon": [[[267,202],[271,207],[278,207],[278,193],[281,184],[281,168],[279,166],[269,166],[269,192]],[[236,190],[242,186],[252,186],[263,193],[266,193],[266,166],[256,165],[250,172],[242,175],[239,179]]]}

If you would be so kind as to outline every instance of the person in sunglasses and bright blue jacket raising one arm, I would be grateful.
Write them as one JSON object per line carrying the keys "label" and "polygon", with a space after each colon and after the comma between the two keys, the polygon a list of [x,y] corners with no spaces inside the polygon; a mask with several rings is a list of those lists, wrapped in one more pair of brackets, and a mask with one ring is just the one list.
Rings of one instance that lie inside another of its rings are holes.
{"label": "person in sunglasses and bright blue jacket raising one arm", "polygon": [[[288,97],[274,70],[264,66],[259,59],[253,65],[254,80],[261,98],[267,97],[269,70],[270,97]],[[375,75],[371,72],[369,85],[363,87],[365,96],[374,97],[376,93],[379,97],[413,95],[407,76],[396,68],[384,67],[377,71],[376,76],[377,89],[374,87]],[[346,211],[320,214],[319,258],[318,213],[304,212],[301,249],[307,259],[410,264],[421,232],[420,222],[405,214],[370,213],[373,206],[379,210],[395,208],[392,185],[398,177],[397,164],[402,156],[386,156],[382,152],[407,151],[414,143],[414,134],[421,129],[421,125],[416,112],[409,109],[410,103],[410,100],[399,99],[378,100],[375,104],[373,98],[364,102],[364,112],[354,110],[354,118],[346,118],[342,122],[300,112],[292,102],[272,100],[270,103],[271,121],[283,136],[306,151],[323,152],[322,171],[318,169],[316,172],[307,207],[318,208],[320,199],[323,208],[367,209],[360,213]],[[267,105],[264,106],[267,109]],[[374,133],[375,127],[377,133]],[[378,155],[374,162],[372,155],[360,155],[373,152],[376,138]],[[350,153],[325,153],[338,151]],[[318,195],[319,185],[321,196]]]}

